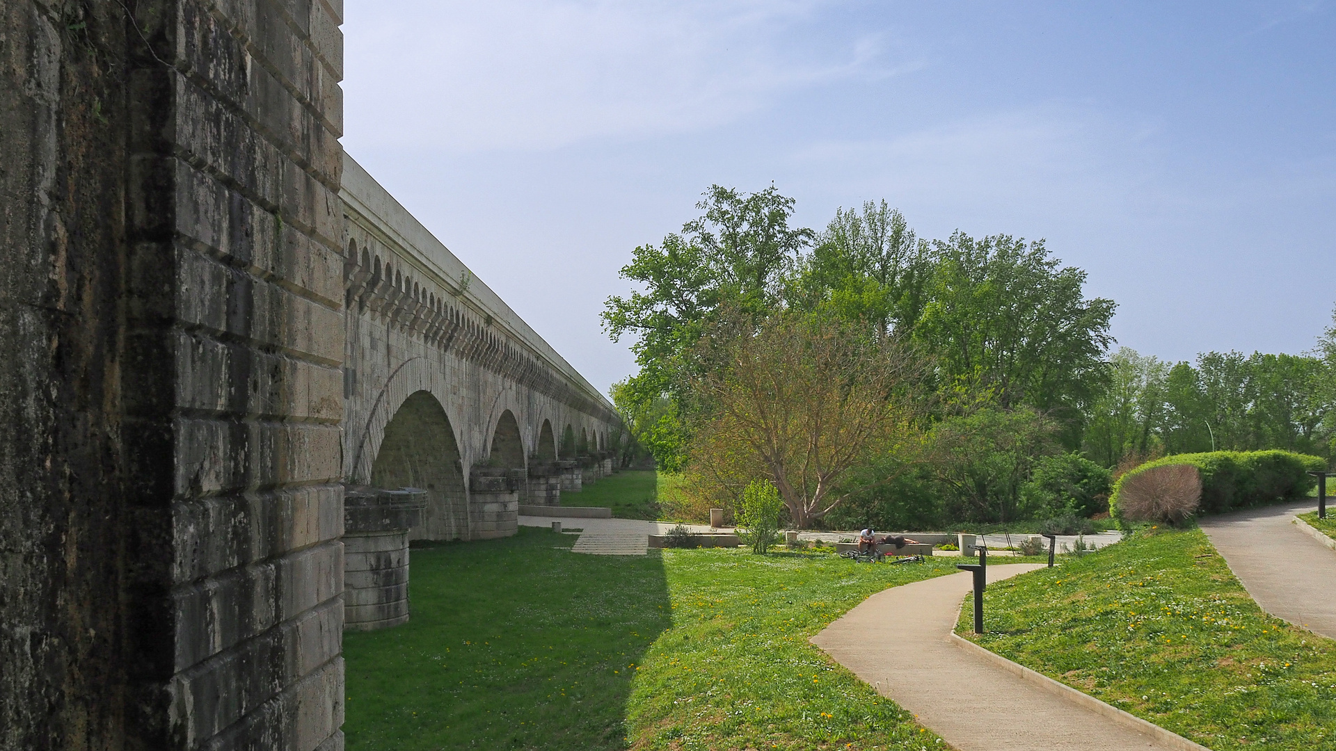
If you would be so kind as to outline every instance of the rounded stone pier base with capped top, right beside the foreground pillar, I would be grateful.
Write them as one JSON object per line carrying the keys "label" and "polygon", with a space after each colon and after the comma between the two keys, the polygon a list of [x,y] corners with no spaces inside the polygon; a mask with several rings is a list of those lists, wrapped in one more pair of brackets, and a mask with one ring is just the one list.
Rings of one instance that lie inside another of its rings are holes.
{"label": "rounded stone pier base with capped top, right beside the foreground pillar", "polygon": [[343,629],[409,620],[409,529],[422,524],[426,490],[347,488],[343,500]]}

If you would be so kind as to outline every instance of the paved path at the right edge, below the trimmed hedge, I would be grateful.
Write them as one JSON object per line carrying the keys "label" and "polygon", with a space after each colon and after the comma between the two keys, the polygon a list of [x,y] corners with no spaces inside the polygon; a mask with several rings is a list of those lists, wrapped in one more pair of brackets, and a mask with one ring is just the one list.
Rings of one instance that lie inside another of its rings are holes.
{"label": "paved path at the right edge, below the trimmed hedge", "polygon": [[1336,551],[1292,521],[1316,509],[1311,500],[1248,509],[1205,517],[1201,529],[1263,609],[1336,639]]}

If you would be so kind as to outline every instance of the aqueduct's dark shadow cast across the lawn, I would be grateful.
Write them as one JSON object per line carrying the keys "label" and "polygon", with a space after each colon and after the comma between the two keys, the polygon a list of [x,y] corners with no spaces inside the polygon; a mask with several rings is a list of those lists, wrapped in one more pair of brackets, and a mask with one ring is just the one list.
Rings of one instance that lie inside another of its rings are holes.
{"label": "aqueduct's dark shadow cast across the lawn", "polygon": [[669,627],[663,559],[573,541],[413,548],[409,623],[343,635],[347,748],[625,748],[631,678]]}

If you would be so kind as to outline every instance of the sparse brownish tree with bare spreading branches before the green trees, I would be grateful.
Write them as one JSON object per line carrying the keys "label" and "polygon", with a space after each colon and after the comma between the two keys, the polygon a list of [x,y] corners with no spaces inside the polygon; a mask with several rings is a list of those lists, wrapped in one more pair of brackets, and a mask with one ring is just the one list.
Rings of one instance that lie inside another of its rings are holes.
{"label": "sparse brownish tree with bare spreading branches before the green trees", "polygon": [[919,358],[868,327],[776,313],[731,317],[696,350],[697,488],[736,498],[775,484],[791,521],[811,527],[843,500],[835,488],[870,453],[912,432]]}

